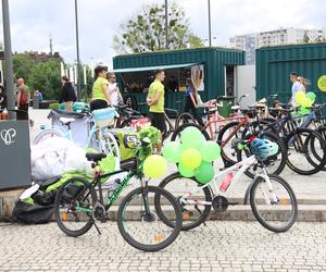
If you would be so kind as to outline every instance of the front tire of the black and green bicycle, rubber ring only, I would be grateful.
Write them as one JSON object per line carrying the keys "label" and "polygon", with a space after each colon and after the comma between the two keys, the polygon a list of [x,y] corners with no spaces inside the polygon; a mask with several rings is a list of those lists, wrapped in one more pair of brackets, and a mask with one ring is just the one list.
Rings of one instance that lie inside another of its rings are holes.
{"label": "front tire of the black and green bicycle, rubber ring only", "polygon": [[[143,191],[143,187],[139,187],[136,188],[134,190],[131,190],[126,197],[124,197],[124,199],[122,200],[118,210],[117,210],[117,226],[120,230],[121,235],[123,236],[123,238],[133,247],[143,250],[143,251],[158,251],[161,250],[167,246],[170,246],[179,235],[179,232],[181,230],[183,226],[183,215],[181,215],[181,207],[179,206],[179,203],[176,201],[176,199],[174,198],[174,196],[168,193],[165,189],[162,189],[160,187],[156,186],[148,186],[147,187],[147,191],[151,191],[154,193],[155,196],[156,195],[163,195],[173,206],[173,209],[176,212],[176,224],[173,227],[173,232],[172,234],[167,237],[166,240],[161,242],[160,244],[156,245],[145,245],[141,244],[139,242],[137,242],[136,239],[134,239],[126,231],[124,227],[124,211],[125,211],[125,206],[127,206],[129,203],[129,201],[136,197],[139,194],[142,194]],[[155,207],[156,208],[156,207]]]}

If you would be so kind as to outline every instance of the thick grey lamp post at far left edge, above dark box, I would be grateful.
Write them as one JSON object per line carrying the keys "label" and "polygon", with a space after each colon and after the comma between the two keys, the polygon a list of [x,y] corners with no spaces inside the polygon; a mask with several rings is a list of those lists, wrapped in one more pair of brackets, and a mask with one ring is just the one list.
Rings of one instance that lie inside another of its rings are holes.
{"label": "thick grey lamp post at far left edge, above dark box", "polygon": [[[10,17],[8,0],[2,0],[2,20],[3,20],[3,44],[4,44],[4,61],[5,61],[5,77],[7,77],[7,101],[8,109],[15,109],[14,84],[13,84],[13,67],[12,67],[12,50],[10,35]],[[9,112],[9,119],[14,119],[14,112]]]}

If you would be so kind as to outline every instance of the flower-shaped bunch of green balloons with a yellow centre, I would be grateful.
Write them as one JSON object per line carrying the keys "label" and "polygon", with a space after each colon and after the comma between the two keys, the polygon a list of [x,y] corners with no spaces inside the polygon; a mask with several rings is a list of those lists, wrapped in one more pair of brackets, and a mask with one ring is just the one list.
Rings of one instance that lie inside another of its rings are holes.
{"label": "flower-shaped bunch of green balloons with a yellow centre", "polygon": [[205,184],[214,177],[212,162],[221,157],[221,149],[215,141],[206,140],[197,127],[188,126],[181,132],[180,143],[171,141],[164,146],[163,157],[178,163],[183,176],[195,176]]}

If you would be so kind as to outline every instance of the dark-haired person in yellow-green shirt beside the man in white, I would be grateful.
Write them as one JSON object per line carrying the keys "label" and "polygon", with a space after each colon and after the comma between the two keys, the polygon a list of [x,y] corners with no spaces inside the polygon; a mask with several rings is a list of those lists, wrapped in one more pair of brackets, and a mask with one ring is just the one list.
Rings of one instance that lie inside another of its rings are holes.
{"label": "dark-haired person in yellow-green shirt beside the man in white", "polygon": [[90,110],[105,109],[113,107],[109,92],[109,82],[106,79],[106,67],[97,66],[95,69],[96,81],[92,85]]}

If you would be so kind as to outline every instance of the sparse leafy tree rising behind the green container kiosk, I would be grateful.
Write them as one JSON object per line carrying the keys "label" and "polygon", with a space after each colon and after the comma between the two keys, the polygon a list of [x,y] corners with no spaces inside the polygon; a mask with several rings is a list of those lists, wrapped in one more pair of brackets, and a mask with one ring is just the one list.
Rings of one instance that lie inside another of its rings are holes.
{"label": "sparse leafy tree rising behind the green container kiosk", "polygon": [[[202,40],[189,28],[185,11],[172,3],[168,11],[168,49],[202,47]],[[113,37],[117,53],[160,51],[166,48],[164,4],[145,5],[142,12],[120,26],[120,35]]]}

